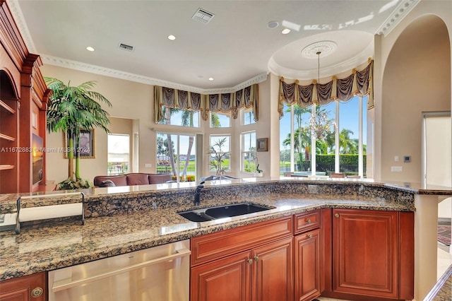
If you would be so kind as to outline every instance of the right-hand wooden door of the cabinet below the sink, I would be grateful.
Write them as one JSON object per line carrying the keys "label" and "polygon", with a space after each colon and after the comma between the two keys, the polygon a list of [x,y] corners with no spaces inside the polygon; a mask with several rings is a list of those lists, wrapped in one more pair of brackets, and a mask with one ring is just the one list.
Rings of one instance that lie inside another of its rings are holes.
{"label": "right-hand wooden door of the cabinet below the sink", "polygon": [[252,300],[293,300],[292,245],[289,237],[252,250]]}

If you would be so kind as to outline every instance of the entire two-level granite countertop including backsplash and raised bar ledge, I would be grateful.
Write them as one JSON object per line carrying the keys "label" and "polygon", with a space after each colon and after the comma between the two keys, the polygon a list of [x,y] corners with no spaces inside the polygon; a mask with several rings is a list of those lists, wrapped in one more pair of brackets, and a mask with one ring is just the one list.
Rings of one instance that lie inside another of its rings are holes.
{"label": "entire two-level granite countertop including backsplash and raised bar ledge", "polygon": [[[194,206],[194,187],[196,183],[188,182],[84,191],[85,225],[81,225],[78,216],[36,224],[26,222],[20,235],[13,230],[0,232],[0,281],[319,208],[415,211],[415,194],[452,194],[450,187],[422,188],[365,179],[222,179],[206,182],[201,206]],[[18,196],[0,195],[0,213],[16,214]],[[54,202],[51,199],[54,198],[27,199],[23,208],[47,206]],[[57,198],[58,204],[78,201],[74,196]],[[177,214],[244,201],[273,209],[203,223]]]}

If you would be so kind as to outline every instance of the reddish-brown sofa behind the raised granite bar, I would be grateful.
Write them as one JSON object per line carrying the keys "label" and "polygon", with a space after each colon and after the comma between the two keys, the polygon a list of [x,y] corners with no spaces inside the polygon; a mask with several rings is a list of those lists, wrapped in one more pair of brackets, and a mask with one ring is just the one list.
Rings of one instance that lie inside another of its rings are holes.
{"label": "reddish-brown sofa behind the raised granite bar", "polygon": [[95,176],[93,184],[95,187],[114,187],[114,186],[161,184],[171,181],[172,181],[171,175],[146,174],[142,172],[134,172],[125,175]]}

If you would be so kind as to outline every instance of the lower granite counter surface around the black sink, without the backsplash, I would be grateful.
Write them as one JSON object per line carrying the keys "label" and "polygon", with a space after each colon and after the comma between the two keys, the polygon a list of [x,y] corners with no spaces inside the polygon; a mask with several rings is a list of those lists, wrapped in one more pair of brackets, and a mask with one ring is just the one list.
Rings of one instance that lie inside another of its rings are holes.
{"label": "lower granite counter surface around the black sink, without the backsplash", "polygon": [[[85,225],[73,218],[28,225],[21,229],[20,235],[15,235],[12,230],[0,232],[0,281],[318,208],[410,210],[403,204],[356,196],[273,194],[247,196],[246,200],[237,201],[251,201],[274,209],[194,223],[177,214],[177,211],[193,208],[186,205],[87,218]],[[201,207],[207,205],[201,203]]]}

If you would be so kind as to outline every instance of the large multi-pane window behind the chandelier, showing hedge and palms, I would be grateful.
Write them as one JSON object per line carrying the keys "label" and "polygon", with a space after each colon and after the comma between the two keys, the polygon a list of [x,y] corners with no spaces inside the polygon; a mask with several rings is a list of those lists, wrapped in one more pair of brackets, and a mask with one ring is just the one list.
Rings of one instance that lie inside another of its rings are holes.
{"label": "large multi-pane window behind the chandelier, showing hedge and palms", "polygon": [[[302,108],[284,106],[280,119],[280,171],[316,171],[317,175],[343,172],[366,177],[367,97],[348,102]],[[289,113],[289,114],[287,114]],[[311,114],[325,114],[331,131],[311,137]],[[314,153],[311,151],[314,150]]]}

